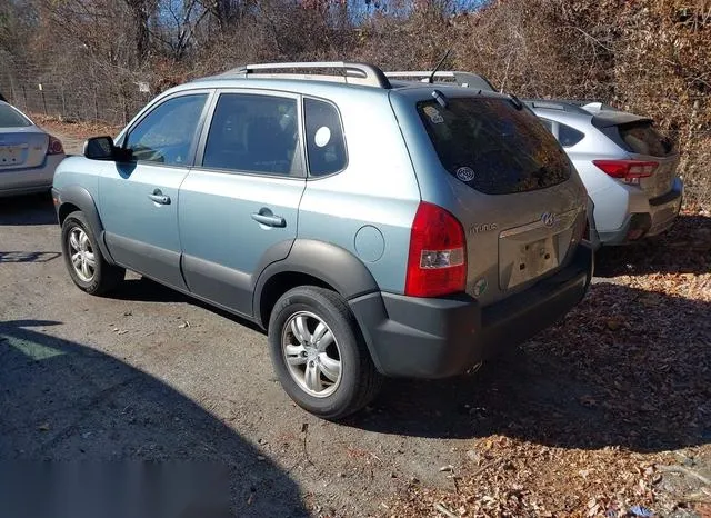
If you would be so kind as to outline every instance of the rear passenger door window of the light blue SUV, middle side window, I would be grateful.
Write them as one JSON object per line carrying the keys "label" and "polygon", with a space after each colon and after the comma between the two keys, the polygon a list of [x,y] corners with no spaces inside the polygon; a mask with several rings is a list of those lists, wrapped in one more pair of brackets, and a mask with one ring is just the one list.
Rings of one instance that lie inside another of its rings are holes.
{"label": "rear passenger door window of the light blue SUV, middle side window", "polygon": [[202,166],[230,171],[303,176],[296,99],[222,93]]}

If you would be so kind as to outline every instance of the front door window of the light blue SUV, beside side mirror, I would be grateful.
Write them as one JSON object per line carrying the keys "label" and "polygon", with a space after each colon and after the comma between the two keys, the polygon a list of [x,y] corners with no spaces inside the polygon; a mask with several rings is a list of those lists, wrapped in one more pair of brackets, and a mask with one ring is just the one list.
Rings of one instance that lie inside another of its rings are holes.
{"label": "front door window of the light blue SUV, beside side mirror", "polygon": [[126,139],[136,160],[182,166],[198,133],[207,93],[173,97],[154,108]]}

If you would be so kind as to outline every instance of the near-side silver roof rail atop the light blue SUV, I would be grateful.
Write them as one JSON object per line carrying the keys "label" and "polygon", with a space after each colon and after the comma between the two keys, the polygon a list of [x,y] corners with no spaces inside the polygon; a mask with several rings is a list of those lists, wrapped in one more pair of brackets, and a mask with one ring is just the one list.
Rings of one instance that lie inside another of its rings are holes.
{"label": "near-side silver roof rail atop the light blue SUV", "polygon": [[[296,72],[298,70],[308,72],[298,73]],[[327,71],[327,73],[309,73],[318,70]],[[328,73],[328,70],[338,71],[339,73]],[[385,89],[391,88],[390,81],[378,67],[368,63],[349,63],[343,61],[246,64],[220,74],[220,77],[229,76],[242,76],[248,79],[306,79],[363,84]]]}

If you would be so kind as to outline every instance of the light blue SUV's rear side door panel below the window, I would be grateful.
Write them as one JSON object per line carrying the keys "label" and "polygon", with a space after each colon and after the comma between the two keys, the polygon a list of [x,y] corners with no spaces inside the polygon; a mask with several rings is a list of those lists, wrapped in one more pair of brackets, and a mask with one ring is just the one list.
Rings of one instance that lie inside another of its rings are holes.
{"label": "light blue SUV's rear side door panel below the window", "polygon": [[[251,315],[251,289],[264,251],[297,238],[304,179],[267,178],[192,169],[180,189],[179,227],[183,272],[190,291]],[[270,211],[284,226],[269,227],[252,215]],[[216,239],[216,223],[220,237]]]}

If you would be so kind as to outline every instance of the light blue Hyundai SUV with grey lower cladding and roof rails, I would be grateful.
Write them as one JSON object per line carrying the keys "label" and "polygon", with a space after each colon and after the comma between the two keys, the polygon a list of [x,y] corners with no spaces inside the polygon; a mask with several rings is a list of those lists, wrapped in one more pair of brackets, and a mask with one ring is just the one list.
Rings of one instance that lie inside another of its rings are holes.
{"label": "light blue Hyundai SUV with grey lower cladding and roof rails", "polygon": [[53,197],[79,288],[130,269],[257,322],[327,419],[528,339],[592,275],[585,190],[530,110],[361,63],[173,88],[64,160]]}

